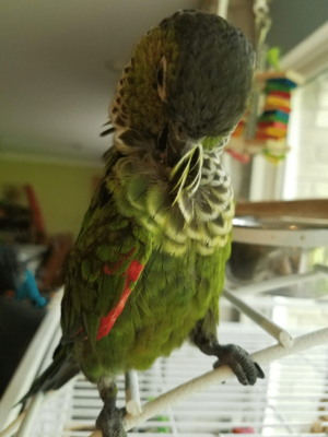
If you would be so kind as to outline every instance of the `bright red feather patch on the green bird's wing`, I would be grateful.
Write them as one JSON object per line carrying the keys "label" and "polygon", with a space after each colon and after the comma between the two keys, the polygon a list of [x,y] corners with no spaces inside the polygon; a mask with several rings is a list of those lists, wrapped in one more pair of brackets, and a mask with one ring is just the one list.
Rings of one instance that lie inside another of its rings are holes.
{"label": "bright red feather patch on the green bird's wing", "polygon": [[[131,287],[130,287],[131,282],[138,281],[138,277],[140,276],[140,273],[142,272],[143,268],[144,268],[144,265],[141,265],[140,262],[137,260],[133,260],[130,263],[128,271],[124,274],[124,276],[127,276],[127,280],[126,280],[126,285],[125,285],[121,298],[119,299],[119,303],[116,305],[116,307],[112,309],[112,311],[108,314],[108,316],[103,317],[101,319],[98,333],[97,333],[97,341],[99,341],[103,336],[107,335],[110,332],[112,328],[114,327],[114,323],[116,322],[116,319],[124,310],[126,303],[128,300],[128,297],[131,293]],[[104,269],[104,271],[105,271],[105,269]]]}

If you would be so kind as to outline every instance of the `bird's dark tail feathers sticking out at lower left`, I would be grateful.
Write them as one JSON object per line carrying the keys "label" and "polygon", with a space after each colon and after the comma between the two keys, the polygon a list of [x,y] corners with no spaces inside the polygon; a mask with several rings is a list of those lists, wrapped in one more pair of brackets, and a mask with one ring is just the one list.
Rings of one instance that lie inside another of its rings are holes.
{"label": "bird's dark tail feathers sticking out at lower left", "polygon": [[80,366],[72,354],[72,344],[59,345],[54,361],[46,370],[35,379],[28,392],[17,402],[23,403],[38,391],[58,390],[80,371]]}

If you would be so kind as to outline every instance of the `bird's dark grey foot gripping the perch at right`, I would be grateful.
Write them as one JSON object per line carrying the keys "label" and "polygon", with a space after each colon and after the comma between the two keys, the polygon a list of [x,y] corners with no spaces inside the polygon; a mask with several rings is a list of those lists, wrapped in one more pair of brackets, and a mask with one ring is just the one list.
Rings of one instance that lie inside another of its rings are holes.
{"label": "bird's dark grey foot gripping the perch at right", "polygon": [[219,359],[213,364],[213,367],[227,365],[243,386],[254,386],[257,378],[265,378],[260,366],[251,359],[244,349],[236,344],[216,344],[215,355]]}

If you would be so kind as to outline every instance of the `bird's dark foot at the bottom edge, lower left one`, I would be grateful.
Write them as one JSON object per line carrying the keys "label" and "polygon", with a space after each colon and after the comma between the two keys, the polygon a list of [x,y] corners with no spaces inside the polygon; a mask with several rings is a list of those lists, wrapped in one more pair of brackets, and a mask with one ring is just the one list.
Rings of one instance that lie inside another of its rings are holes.
{"label": "bird's dark foot at the bottom edge, lower left one", "polygon": [[96,420],[96,427],[102,432],[103,437],[127,437],[122,420],[122,411],[115,406],[113,399],[106,399]]}

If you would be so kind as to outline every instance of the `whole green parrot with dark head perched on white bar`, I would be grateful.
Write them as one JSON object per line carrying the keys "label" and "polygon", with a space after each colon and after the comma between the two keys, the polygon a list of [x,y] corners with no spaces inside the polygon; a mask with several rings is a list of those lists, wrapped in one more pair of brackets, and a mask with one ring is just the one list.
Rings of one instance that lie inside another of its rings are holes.
{"label": "whole green parrot with dark head perched on white bar", "polygon": [[115,377],[149,368],[187,339],[242,383],[263,378],[244,350],[216,340],[234,214],[220,155],[253,70],[241,31],[187,10],[148,32],[119,80],[114,146],[68,265],[62,340],[27,394],[81,369],[104,401],[104,437],[125,435]]}

